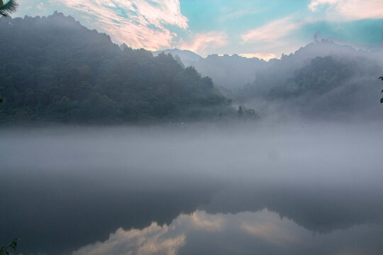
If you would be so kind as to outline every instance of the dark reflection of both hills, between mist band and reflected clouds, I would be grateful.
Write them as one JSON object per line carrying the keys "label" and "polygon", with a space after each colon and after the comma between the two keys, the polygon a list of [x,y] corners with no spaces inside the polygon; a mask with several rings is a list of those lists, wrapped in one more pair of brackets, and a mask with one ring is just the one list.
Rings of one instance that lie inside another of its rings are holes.
{"label": "dark reflection of both hills, between mist band and reflected clouds", "polygon": [[[0,240],[21,237],[19,251],[23,253],[67,253],[104,242],[119,227],[127,231],[148,227],[151,222],[171,225],[180,213],[191,214],[196,208],[211,214],[267,208],[320,233],[383,222],[383,202],[377,199],[382,191],[357,188],[284,188],[272,183],[244,185],[137,174],[95,174],[89,179],[72,174],[24,173],[2,176],[2,180],[0,202],[8,209],[0,212]],[[208,223],[200,222],[208,232],[216,229]]]}

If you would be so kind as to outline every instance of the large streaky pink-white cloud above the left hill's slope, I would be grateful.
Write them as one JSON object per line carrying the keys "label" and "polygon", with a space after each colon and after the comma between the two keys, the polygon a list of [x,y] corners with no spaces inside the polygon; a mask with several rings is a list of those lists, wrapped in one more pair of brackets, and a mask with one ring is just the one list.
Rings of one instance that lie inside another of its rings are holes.
{"label": "large streaky pink-white cloud above the left hill's slope", "polygon": [[91,17],[117,42],[155,50],[169,47],[177,36],[167,26],[187,29],[188,19],[180,11],[179,0],[51,0]]}

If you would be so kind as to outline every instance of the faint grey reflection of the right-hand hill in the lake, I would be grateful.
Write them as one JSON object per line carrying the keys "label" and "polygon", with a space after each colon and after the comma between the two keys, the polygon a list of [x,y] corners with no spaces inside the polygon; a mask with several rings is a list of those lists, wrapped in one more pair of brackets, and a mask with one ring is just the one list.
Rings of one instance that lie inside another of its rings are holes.
{"label": "faint grey reflection of the right-hand hill in the lake", "polygon": [[[379,195],[380,194],[380,195]],[[383,223],[383,191],[365,188],[283,187],[260,183],[222,190],[211,203],[200,206],[210,213],[238,213],[267,208],[313,232],[327,233],[361,224]]]}

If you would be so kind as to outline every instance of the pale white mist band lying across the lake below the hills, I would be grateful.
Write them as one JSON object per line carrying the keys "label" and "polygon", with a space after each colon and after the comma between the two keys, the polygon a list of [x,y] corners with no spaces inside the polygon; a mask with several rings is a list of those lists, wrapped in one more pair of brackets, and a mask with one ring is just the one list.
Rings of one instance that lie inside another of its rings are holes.
{"label": "pale white mist band lying across the lake below the hills", "polygon": [[381,168],[381,127],[372,122],[240,122],[2,130],[1,165],[6,172],[108,171],[292,183],[338,183],[360,176],[373,181]]}

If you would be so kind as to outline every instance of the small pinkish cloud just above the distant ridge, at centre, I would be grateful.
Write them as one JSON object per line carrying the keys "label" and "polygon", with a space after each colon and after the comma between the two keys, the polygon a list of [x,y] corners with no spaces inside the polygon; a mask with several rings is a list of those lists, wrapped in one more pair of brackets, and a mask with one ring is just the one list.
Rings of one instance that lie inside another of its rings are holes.
{"label": "small pinkish cloud just above the distant ridge, at centre", "polygon": [[201,55],[206,54],[206,50],[217,49],[228,43],[228,35],[225,32],[211,31],[209,33],[199,33],[194,35],[191,42],[181,42],[179,48],[182,50],[191,50]]}

